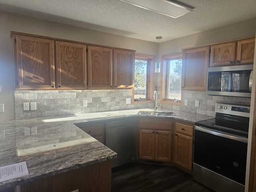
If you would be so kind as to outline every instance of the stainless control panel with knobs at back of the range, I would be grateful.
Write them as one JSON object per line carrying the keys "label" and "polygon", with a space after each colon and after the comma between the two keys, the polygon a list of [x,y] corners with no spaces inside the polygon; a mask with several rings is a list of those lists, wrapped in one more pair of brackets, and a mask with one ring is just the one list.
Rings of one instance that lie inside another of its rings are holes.
{"label": "stainless control panel with knobs at back of the range", "polygon": [[216,113],[250,117],[250,106],[243,106],[229,103],[216,103]]}

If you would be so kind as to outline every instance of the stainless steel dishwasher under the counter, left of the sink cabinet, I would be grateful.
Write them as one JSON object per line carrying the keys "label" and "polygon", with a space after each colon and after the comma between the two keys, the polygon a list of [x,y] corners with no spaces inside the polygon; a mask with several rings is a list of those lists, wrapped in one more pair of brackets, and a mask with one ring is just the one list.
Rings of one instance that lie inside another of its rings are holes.
{"label": "stainless steel dishwasher under the counter, left of the sink cabinet", "polygon": [[134,161],[136,155],[135,119],[106,122],[106,146],[117,153],[112,168]]}

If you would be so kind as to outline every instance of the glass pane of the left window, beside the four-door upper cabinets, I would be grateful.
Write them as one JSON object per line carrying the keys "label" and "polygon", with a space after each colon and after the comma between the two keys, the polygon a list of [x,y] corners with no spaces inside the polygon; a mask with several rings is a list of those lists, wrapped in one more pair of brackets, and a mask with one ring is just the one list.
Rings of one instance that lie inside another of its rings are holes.
{"label": "glass pane of the left window, beside the four-door upper cabinets", "polygon": [[135,60],[134,99],[147,98],[148,61]]}

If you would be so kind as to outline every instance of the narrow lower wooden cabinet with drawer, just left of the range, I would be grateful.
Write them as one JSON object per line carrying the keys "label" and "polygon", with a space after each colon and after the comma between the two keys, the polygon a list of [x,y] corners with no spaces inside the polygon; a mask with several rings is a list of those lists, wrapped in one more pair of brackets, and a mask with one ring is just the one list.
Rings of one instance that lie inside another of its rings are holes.
{"label": "narrow lower wooden cabinet with drawer, just left of the range", "polygon": [[174,163],[188,171],[192,171],[194,125],[175,122],[174,128]]}

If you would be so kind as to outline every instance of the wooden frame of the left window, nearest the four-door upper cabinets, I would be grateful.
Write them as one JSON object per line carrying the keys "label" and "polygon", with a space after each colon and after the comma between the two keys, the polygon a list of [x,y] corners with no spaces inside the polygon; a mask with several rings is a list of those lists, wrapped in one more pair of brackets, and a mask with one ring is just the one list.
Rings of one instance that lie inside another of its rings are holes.
{"label": "wooden frame of the left window, nearest the four-door upper cabinets", "polygon": [[[132,90],[132,104],[143,104],[143,103],[152,103],[153,102],[153,92],[154,92],[154,72],[155,72],[155,56],[151,55],[144,55],[144,54],[135,54],[135,60],[147,60],[148,61],[148,97],[147,98],[142,98],[140,100],[134,100],[134,89]],[[134,60],[134,63],[135,63]],[[135,64],[134,64],[135,68]],[[135,70],[134,70],[135,74]],[[135,76],[135,75],[134,75]]]}

